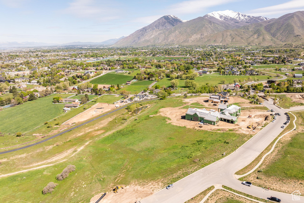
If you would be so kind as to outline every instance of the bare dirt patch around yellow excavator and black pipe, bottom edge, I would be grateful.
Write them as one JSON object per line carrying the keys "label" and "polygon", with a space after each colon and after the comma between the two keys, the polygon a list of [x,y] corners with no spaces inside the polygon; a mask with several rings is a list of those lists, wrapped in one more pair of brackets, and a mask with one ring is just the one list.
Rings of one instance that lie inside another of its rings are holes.
{"label": "bare dirt patch around yellow excavator and black pipe, bottom edge", "polygon": [[[141,200],[155,191],[158,191],[161,186],[160,184],[152,183],[149,185],[140,186],[137,184],[128,185],[126,187],[123,186],[123,189],[119,189],[118,193],[114,193],[113,191],[107,192],[105,197],[102,199],[103,203],[130,203],[136,202],[137,200]],[[113,186],[114,188],[115,186]],[[91,198],[90,203],[95,203],[103,193],[96,194]]]}

